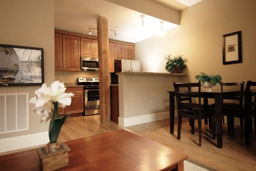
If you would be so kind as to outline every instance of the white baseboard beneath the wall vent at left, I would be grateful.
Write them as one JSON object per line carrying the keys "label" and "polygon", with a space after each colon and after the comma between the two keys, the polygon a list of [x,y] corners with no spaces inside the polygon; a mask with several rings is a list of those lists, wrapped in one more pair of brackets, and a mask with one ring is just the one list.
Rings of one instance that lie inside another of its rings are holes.
{"label": "white baseboard beneath the wall vent at left", "polygon": [[0,139],[0,153],[21,148],[33,147],[36,145],[47,144],[49,142],[48,131],[42,133],[16,136]]}

